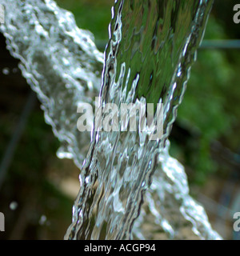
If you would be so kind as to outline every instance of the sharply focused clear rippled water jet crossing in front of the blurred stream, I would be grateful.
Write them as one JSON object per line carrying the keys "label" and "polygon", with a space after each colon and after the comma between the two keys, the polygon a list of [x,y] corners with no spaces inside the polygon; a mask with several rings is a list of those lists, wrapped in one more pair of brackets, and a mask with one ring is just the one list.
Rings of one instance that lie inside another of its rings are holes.
{"label": "sharply focused clear rippled water jet crossing in front of the blurred stream", "polygon": [[[182,102],[211,6],[212,1],[115,2],[105,52],[102,106],[115,103],[120,108],[122,103],[161,102],[164,134],[160,140],[150,141],[148,134],[139,130],[94,133],[66,238],[131,238],[144,194]],[[170,172],[170,168],[162,168],[160,173],[164,170]],[[186,205],[187,202],[180,203],[180,211],[190,221],[190,229],[202,238],[218,238],[214,232],[208,234],[204,217],[200,220],[205,228],[202,232],[200,222],[187,215]],[[174,237],[173,228],[168,226]]]}

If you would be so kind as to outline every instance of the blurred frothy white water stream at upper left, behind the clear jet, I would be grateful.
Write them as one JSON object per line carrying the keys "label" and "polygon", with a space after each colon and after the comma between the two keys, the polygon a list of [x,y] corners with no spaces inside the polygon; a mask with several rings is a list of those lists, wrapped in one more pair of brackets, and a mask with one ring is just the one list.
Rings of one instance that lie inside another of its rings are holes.
{"label": "blurred frothy white water stream at upper left, behind the clear jet", "polygon": [[62,142],[60,158],[74,158],[80,168],[90,134],[77,130],[78,102],[92,103],[101,85],[103,54],[93,35],[80,30],[73,14],[53,1],[0,1],[6,6],[7,48],[42,102],[45,119]]}

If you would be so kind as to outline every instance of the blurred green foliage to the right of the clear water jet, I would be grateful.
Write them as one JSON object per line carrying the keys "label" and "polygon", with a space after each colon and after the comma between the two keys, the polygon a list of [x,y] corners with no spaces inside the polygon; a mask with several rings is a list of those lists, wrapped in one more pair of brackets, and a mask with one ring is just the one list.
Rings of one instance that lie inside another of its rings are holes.
{"label": "blurred green foliage to the right of the clear water jet", "polygon": [[[227,31],[211,15],[205,39],[225,38]],[[177,119],[186,129],[198,133],[196,150],[190,152],[190,159],[185,156],[186,164],[194,169],[194,182],[205,182],[208,174],[221,168],[211,158],[212,142],[224,140],[226,147],[238,150],[239,57],[239,50],[198,50]]]}

